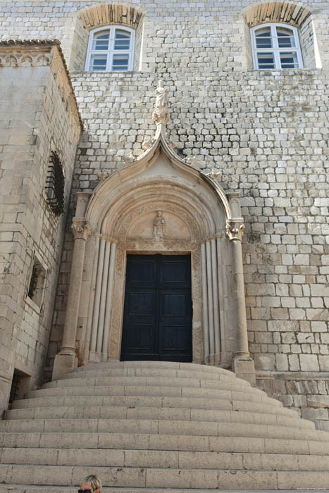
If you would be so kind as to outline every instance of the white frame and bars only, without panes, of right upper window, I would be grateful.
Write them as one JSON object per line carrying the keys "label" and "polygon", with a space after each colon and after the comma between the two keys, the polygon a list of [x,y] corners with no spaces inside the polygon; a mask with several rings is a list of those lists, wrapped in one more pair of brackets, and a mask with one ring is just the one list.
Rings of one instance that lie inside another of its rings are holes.
{"label": "white frame and bars only, without panes, of right upper window", "polygon": [[[256,46],[256,32],[260,29],[263,29],[263,27],[270,27],[271,30],[271,39],[273,46],[271,48],[257,48]],[[280,47],[278,45],[278,35],[277,35],[277,28],[282,27],[283,29],[288,29],[292,31],[294,35],[294,42],[296,44],[295,47]],[[300,47],[299,43],[299,35],[298,35],[298,30],[297,27],[293,27],[292,25],[289,24],[283,24],[283,23],[266,23],[266,24],[259,24],[250,29],[250,36],[252,38],[252,60],[254,63],[254,70],[298,70],[299,68],[304,68],[303,65],[303,58],[302,58],[302,50]],[[280,61],[280,53],[282,52],[294,52],[297,56],[297,62],[298,62],[298,67],[294,69],[287,69],[285,67],[281,66],[281,61]],[[273,53],[273,59],[274,59],[274,68],[259,68],[259,61],[257,55],[259,53],[268,53],[271,52]]]}

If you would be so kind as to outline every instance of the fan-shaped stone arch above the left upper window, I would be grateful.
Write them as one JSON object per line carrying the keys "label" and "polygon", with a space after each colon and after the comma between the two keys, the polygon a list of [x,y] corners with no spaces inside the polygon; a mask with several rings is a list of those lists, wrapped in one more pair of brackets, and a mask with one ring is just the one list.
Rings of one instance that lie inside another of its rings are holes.
{"label": "fan-shaped stone arch above the left upper window", "polygon": [[78,17],[87,30],[103,25],[122,24],[137,29],[142,12],[125,5],[99,5],[80,12]]}

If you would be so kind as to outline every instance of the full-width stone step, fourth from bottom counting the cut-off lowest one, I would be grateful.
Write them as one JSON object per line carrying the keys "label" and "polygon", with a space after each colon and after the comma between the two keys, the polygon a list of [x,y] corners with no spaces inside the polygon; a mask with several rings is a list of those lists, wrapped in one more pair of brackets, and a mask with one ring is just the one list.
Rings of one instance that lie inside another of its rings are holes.
{"label": "full-width stone step, fourth from bottom counting the cut-off lowest one", "polygon": [[0,432],[0,447],[216,451],[299,455],[329,454],[329,442],[304,440],[302,438],[195,437],[192,435],[116,432]]}

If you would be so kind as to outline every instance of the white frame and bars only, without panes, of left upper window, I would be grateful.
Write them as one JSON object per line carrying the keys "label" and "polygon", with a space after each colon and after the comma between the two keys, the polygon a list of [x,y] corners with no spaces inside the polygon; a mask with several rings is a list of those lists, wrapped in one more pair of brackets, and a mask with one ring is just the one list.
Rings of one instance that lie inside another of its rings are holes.
{"label": "white frame and bars only, without panes, of left upper window", "polygon": [[[115,50],[114,49],[114,39],[116,30],[122,30],[130,33],[130,49],[129,50]],[[101,31],[109,30],[109,40],[108,40],[108,49],[107,50],[93,50],[92,43],[94,41],[94,35]],[[89,41],[87,46],[87,55],[86,55],[86,63],[85,63],[85,71],[86,72],[131,72],[133,63],[134,63],[134,51],[135,51],[135,30],[131,27],[113,24],[113,25],[104,25],[102,27],[97,27],[89,32]],[[106,69],[105,70],[91,70],[90,61],[92,55],[105,55],[106,54]],[[113,70],[113,54],[129,54],[128,58],[128,68],[126,70]]]}

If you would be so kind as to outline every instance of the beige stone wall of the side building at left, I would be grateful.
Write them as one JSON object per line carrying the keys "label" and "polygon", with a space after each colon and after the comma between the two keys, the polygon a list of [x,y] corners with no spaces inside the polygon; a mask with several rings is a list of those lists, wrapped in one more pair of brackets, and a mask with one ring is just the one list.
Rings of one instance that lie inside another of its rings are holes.
{"label": "beige stone wall of the side building at left", "polygon": [[[18,66],[6,66],[13,63],[8,56],[15,56]],[[65,106],[73,95],[58,49],[41,55],[50,67],[31,66],[38,56],[30,46],[0,46],[5,65],[0,79],[1,406],[8,401],[14,369],[30,377],[27,387],[43,378],[66,221],[51,212],[44,186],[50,152],[56,149],[66,175],[67,208],[80,135],[74,101],[74,110],[72,104]],[[35,258],[45,275],[40,304],[27,296]]]}

